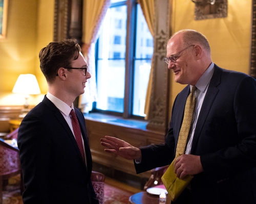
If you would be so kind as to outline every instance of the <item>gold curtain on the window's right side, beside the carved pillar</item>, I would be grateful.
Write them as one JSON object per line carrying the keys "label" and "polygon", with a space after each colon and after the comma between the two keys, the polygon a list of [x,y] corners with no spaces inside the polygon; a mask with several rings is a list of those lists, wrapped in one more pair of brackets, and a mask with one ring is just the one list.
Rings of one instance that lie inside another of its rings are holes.
{"label": "gold curtain on the window's right side, beside the carved pillar", "polygon": [[[154,0],[138,0],[138,3],[141,6],[141,10],[145,17],[148,30],[150,30],[153,39],[154,39],[154,29],[155,29],[155,3]],[[145,108],[144,113],[146,114],[145,119],[148,119],[148,113],[150,111],[150,98],[152,92],[152,82],[153,82],[153,69],[154,69],[154,53],[151,61],[151,71],[150,71],[150,79],[148,80],[147,90],[146,90],[146,98],[145,98]]]}

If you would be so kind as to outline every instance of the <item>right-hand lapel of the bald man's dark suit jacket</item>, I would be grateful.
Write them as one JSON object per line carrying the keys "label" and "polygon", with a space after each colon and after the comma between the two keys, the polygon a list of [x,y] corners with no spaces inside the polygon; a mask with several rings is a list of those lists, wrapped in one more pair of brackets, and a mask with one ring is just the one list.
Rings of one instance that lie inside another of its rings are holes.
{"label": "right-hand lapel of the bald man's dark suit jacket", "polygon": [[196,129],[195,129],[195,133],[194,133],[194,137],[193,137],[193,142],[192,142],[192,147],[191,147],[191,154],[196,147],[197,141],[200,137],[202,127],[203,127],[205,119],[209,113],[209,110],[212,106],[212,103],[214,103],[214,99],[215,99],[217,93],[219,92],[219,89],[217,88],[217,86],[220,84],[221,72],[222,72],[222,69],[220,67],[218,67],[217,65],[215,65],[215,71],[210,80],[210,84],[208,86],[208,89],[207,89],[207,92],[206,92],[206,95],[205,95],[205,98],[204,98],[204,101],[203,101],[203,104],[201,107],[201,111],[198,116],[198,121],[197,121]]}

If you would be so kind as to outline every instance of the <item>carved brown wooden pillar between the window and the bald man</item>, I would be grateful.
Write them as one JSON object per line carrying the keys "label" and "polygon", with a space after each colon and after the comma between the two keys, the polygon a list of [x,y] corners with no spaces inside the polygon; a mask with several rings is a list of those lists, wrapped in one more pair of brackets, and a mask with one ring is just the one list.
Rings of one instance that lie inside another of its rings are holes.
{"label": "carved brown wooden pillar between the window and the bald man", "polygon": [[148,130],[166,133],[168,128],[168,96],[169,73],[163,59],[166,56],[166,45],[169,39],[169,1],[155,1],[156,28],[154,40],[154,69],[151,94],[150,113],[148,116]]}

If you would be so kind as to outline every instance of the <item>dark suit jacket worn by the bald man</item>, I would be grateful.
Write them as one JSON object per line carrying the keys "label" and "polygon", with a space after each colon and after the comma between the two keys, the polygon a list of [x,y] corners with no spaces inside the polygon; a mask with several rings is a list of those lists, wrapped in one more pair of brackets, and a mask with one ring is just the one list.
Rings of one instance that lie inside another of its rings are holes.
{"label": "dark suit jacket worn by the bald man", "polygon": [[[175,99],[165,143],[141,148],[141,164],[135,164],[137,173],[174,160],[189,92],[186,86]],[[256,203],[256,82],[253,78],[215,65],[191,154],[201,156],[204,170],[191,181],[193,203]]]}

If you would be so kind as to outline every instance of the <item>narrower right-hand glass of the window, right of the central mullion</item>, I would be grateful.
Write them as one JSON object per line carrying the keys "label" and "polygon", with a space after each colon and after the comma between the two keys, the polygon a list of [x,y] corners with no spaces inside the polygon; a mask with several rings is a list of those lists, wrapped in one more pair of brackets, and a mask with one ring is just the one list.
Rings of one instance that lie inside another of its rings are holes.
{"label": "narrower right-hand glass of the window, right of the central mullion", "polygon": [[147,23],[137,5],[137,27],[136,27],[136,59],[134,69],[133,89],[133,115],[145,116],[145,97],[148,79],[151,70],[151,58],[154,51],[153,36],[148,30]]}

